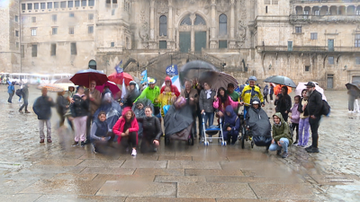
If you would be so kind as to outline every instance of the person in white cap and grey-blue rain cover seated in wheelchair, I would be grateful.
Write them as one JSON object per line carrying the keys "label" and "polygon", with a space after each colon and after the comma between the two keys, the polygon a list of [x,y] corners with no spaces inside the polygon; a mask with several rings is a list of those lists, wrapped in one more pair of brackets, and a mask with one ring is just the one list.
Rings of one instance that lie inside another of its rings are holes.
{"label": "person in white cap and grey-blue rain cover seated in wheelchair", "polygon": [[247,131],[251,132],[254,144],[257,146],[266,146],[266,151],[271,144],[271,124],[266,111],[261,109],[260,100],[253,98],[251,107],[247,111],[245,124]]}

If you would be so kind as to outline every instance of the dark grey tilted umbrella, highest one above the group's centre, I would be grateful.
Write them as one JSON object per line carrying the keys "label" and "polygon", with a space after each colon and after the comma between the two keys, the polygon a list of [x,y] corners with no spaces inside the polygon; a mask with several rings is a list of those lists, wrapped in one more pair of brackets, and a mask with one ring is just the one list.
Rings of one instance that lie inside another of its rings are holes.
{"label": "dark grey tilted umbrella, highest one above the group's centre", "polygon": [[201,61],[201,60],[194,60],[191,62],[186,63],[180,71],[180,82],[184,85],[184,81],[186,79],[193,79],[194,77],[199,78],[205,71],[215,71],[218,72],[219,70],[212,66],[210,63]]}

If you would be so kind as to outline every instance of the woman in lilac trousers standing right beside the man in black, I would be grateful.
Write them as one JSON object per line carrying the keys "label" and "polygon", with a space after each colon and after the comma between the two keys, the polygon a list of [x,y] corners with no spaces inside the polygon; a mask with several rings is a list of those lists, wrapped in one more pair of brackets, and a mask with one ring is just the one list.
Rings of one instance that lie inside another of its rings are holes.
{"label": "woman in lilac trousers standing right beside the man in black", "polygon": [[299,119],[299,142],[298,146],[305,147],[309,141],[309,116],[305,116],[305,108],[308,104],[307,90],[302,90],[302,99],[299,101],[298,111],[301,112]]}

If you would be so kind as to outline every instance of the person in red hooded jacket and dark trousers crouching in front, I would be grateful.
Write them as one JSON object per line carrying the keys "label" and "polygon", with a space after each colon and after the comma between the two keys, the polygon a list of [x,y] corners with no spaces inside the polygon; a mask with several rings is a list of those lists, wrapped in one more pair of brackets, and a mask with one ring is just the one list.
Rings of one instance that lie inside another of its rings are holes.
{"label": "person in red hooded jacket and dark trousers crouching in front", "polygon": [[124,148],[132,146],[132,156],[136,156],[136,146],[138,145],[138,121],[135,119],[134,112],[130,107],[124,108],[121,118],[112,127],[112,132],[118,136],[118,143]]}

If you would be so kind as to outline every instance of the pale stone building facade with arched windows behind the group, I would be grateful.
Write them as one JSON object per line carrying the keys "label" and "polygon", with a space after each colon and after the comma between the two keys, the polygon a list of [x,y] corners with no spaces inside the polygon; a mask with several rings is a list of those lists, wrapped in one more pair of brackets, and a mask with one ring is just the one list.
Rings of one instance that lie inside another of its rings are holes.
{"label": "pale stone building facade with arched windows behind the group", "polygon": [[0,71],[91,67],[110,75],[122,60],[127,72],[147,68],[161,79],[166,66],[201,59],[240,83],[249,75],[286,75],[327,89],[360,81],[359,0],[8,2],[0,7]]}

